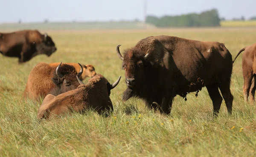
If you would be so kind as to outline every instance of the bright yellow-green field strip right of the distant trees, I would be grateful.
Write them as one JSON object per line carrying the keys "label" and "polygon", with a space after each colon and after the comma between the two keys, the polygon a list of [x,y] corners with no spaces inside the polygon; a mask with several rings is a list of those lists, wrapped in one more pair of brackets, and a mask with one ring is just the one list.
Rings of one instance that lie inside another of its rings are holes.
{"label": "bright yellow-green field strip right of the distant trees", "polygon": [[221,27],[252,27],[256,26],[256,20],[253,21],[221,21]]}

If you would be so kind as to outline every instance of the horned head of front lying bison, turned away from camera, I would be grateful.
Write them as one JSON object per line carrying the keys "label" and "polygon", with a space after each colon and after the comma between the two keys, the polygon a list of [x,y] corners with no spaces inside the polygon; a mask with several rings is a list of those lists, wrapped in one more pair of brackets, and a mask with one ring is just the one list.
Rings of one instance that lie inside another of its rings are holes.
{"label": "horned head of front lying bison, turned away from camera", "polygon": [[[76,76],[78,82],[80,85],[83,85],[84,83],[79,79],[79,76]],[[110,84],[108,82],[108,80],[102,76],[101,74],[97,74],[96,76],[94,76],[93,78],[91,78],[88,82],[91,82],[93,84],[99,84],[99,86],[101,87],[101,89],[104,89],[104,87],[106,87],[106,89],[108,90],[108,96],[110,95],[110,91],[115,88],[117,86],[117,84],[119,83],[121,79],[121,76],[119,76],[119,78],[113,83]]]}

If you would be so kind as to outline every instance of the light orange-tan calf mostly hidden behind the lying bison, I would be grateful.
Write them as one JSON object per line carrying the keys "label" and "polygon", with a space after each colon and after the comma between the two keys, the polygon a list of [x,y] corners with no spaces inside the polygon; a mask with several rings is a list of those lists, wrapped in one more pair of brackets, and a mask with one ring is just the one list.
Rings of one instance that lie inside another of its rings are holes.
{"label": "light orange-tan calf mostly hidden behind the lying bison", "polygon": [[[56,67],[56,66],[58,66],[58,64],[60,64],[60,62],[50,63],[49,65]],[[79,71],[80,71],[79,64],[77,64],[77,63],[65,63],[65,64],[73,65],[76,68],[76,72],[79,73]],[[95,71],[95,68],[93,67],[93,65],[91,65],[91,64],[87,64],[87,65],[82,64],[82,66],[83,66],[84,71],[83,71],[82,75],[79,77],[80,80],[83,81],[87,77],[91,78],[91,77],[96,75],[96,71]]]}

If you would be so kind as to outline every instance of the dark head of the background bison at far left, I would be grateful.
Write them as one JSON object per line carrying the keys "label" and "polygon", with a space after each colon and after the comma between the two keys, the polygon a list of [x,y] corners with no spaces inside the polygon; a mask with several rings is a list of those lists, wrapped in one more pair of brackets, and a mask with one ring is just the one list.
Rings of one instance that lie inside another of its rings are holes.
{"label": "dark head of the background bison at far left", "polygon": [[38,54],[46,54],[47,56],[51,56],[51,54],[57,50],[55,43],[47,34],[42,35],[42,39],[43,40],[41,43],[36,44]]}

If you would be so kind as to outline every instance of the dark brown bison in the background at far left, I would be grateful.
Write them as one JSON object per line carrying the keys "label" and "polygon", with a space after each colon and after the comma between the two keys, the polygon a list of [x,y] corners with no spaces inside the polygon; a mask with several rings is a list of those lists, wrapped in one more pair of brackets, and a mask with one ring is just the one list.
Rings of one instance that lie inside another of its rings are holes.
{"label": "dark brown bison in the background at far left", "polygon": [[19,63],[27,62],[38,54],[51,56],[56,50],[52,38],[37,30],[0,33],[0,53],[19,58]]}

